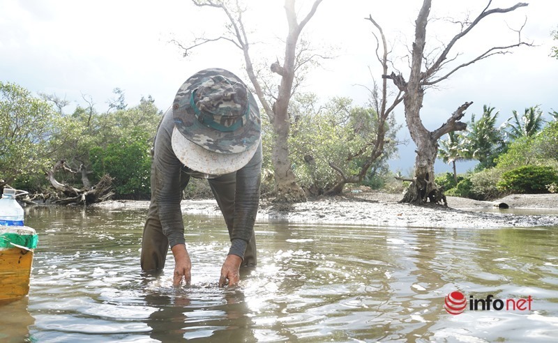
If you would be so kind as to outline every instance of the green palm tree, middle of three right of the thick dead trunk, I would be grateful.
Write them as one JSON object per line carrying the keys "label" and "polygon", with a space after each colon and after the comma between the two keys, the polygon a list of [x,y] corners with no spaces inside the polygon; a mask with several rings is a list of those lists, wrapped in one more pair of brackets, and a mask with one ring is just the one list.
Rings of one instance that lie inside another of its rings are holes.
{"label": "green palm tree, middle of three right of the thick dead trunk", "polygon": [[481,163],[481,167],[493,167],[494,158],[504,148],[502,132],[496,127],[499,112],[492,114],[494,107],[483,106],[483,115],[475,121],[475,115],[467,125],[469,133],[465,144],[471,151],[471,157]]}

